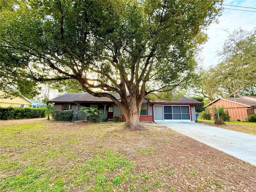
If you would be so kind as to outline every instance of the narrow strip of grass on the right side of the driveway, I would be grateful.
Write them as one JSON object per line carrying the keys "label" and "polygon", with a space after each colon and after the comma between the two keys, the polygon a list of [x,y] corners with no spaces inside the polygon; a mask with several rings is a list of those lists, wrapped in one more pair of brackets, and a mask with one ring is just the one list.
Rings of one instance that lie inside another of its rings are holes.
{"label": "narrow strip of grass on the right side of the driveway", "polygon": [[214,124],[213,119],[212,120],[198,119],[198,123],[204,123],[211,126],[216,126],[224,129],[256,135],[256,123],[253,123],[253,122],[230,121],[230,122],[225,122],[225,125],[216,125]]}

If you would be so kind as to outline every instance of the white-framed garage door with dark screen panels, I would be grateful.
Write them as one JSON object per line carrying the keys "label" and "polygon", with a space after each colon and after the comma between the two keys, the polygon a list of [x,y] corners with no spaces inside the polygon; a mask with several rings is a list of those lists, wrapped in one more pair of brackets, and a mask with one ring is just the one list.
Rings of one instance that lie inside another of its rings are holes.
{"label": "white-framed garage door with dark screen panels", "polygon": [[188,105],[154,105],[154,121],[190,122]]}

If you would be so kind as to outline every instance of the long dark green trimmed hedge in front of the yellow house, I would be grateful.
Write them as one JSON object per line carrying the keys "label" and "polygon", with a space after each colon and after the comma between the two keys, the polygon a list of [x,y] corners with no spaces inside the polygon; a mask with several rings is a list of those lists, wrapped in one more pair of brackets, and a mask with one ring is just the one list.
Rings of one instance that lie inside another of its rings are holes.
{"label": "long dark green trimmed hedge in front of the yellow house", "polygon": [[46,108],[0,107],[0,119],[30,119],[46,116]]}

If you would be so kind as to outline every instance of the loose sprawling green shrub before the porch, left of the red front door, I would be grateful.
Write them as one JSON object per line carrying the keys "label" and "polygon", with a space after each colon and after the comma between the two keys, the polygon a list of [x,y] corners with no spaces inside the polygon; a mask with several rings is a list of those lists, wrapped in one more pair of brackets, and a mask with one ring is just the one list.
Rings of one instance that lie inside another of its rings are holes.
{"label": "loose sprawling green shrub before the porch, left of the red front door", "polygon": [[97,108],[81,107],[81,109],[77,112],[77,114],[79,114],[80,112],[85,114],[87,121],[90,121],[90,122],[102,121],[102,119],[100,118],[100,114],[102,114],[102,111],[98,110]]}

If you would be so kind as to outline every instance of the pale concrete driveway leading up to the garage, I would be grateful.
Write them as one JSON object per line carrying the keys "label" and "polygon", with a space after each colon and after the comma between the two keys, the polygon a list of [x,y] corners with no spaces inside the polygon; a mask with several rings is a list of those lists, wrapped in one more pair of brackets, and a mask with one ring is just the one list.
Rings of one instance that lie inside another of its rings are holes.
{"label": "pale concrete driveway leading up to the garage", "polygon": [[256,166],[256,136],[193,122],[157,122]]}

